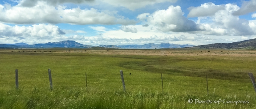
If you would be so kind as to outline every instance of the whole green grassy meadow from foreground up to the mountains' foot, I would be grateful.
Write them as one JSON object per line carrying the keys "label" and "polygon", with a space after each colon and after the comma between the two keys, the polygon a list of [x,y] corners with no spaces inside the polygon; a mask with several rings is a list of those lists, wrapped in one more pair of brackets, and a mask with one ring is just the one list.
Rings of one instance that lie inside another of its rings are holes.
{"label": "whole green grassy meadow from foreground up to the mountains' foot", "polygon": [[0,49],[0,109],[256,109],[255,61],[243,49]]}

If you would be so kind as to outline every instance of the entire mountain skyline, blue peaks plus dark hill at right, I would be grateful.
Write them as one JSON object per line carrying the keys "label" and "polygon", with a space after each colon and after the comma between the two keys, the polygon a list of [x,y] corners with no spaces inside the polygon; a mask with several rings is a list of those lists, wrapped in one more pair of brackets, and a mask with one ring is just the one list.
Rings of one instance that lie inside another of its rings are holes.
{"label": "entire mountain skyline, blue peaks plus dark hill at right", "polygon": [[83,45],[76,41],[60,41],[60,42],[48,42],[45,44],[34,44],[28,45],[26,43],[16,43],[16,44],[0,44],[0,48],[92,48],[92,47],[104,47],[104,48],[114,48],[114,49],[163,49],[163,48],[184,48],[190,47],[194,49],[256,49],[256,38],[237,41],[232,43],[215,43],[208,45],[177,45],[177,44],[144,44],[144,45]]}

